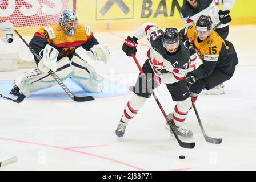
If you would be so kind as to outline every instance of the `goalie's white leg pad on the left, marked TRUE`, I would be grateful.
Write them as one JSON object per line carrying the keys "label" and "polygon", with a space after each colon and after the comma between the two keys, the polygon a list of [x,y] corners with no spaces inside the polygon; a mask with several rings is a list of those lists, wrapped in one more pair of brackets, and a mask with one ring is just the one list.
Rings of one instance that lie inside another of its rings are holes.
{"label": "goalie's white leg pad on the left, marked TRUE", "polygon": [[[61,80],[66,80],[74,74],[69,58],[63,57],[57,62],[57,72],[55,73]],[[18,86],[20,92],[26,97],[29,97],[31,92],[49,88],[57,84],[58,83],[50,73],[43,73],[39,69],[26,72],[15,79],[15,85]]]}

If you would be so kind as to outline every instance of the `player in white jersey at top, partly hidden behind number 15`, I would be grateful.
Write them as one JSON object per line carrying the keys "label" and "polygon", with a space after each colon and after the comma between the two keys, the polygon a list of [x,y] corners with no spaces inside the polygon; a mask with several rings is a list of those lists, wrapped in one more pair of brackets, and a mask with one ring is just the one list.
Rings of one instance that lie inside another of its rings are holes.
{"label": "player in white jersey at top, partly hidden behind number 15", "polygon": [[[181,7],[181,19],[187,27],[197,22],[199,16],[209,15],[213,21],[213,27],[218,26],[215,31],[225,40],[229,35],[229,22],[231,21],[229,14],[234,4],[235,0],[187,0]],[[222,10],[219,10],[218,5],[223,5]],[[224,85],[222,83],[211,90],[203,90],[203,93],[225,94]]]}

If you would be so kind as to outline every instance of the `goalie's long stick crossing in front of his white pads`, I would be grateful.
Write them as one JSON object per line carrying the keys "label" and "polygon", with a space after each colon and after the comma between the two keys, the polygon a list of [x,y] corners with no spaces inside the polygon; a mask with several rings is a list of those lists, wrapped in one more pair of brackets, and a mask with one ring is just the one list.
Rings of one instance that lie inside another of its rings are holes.
{"label": "goalie's long stick crossing in front of his white pads", "polygon": [[[29,46],[29,44],[26,42],[25,39],[23,39],[23,37],[21,36],[21,34],[19,34],[19,32],[10,24],[9,21],[7,21],[7,23],[9,23],[10,27],[15,31],[15,33],[19,36],[19,38],[21,38],[21,40],[26,44],[26,46],[30,49],[30,51],[33,53],[33,55],[35,57],[37,57],[38,60],[41,60],[41,58],[37,55],[37,53],[35,53],[35,51],[33,50],[33,48],[31,48]],[[93,96],[85,96],[85,97],[77,97],[74,96],[70,90],[67,88],[67,86],[62,82],[62,80],[55,74],[55,72],[50,72],[50,75],[53,76],[53,78],[58,82],[58,84],[61,86],[61,88],[69,95],[69,97],[76,101],[76,102],[85,102],[85,101],[93,101],[95,100],[95,98]]]}

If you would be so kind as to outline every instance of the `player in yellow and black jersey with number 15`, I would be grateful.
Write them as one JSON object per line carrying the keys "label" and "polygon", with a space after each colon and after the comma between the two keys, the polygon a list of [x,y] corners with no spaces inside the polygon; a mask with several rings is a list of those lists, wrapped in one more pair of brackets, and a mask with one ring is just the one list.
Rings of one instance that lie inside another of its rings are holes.
{"label": "player in yellow and black jersey with number 15", "polygon": [[195,97],[202,89],[209,90],[229,80],[235,72],[235,65],[238,64],[233,44],[223,40],[211,28],[210,16],[201,15],[196,24],[191,24],[185,30],[185,37],[194,44],[203,61],[197,69],[186,75],[189,89]]}

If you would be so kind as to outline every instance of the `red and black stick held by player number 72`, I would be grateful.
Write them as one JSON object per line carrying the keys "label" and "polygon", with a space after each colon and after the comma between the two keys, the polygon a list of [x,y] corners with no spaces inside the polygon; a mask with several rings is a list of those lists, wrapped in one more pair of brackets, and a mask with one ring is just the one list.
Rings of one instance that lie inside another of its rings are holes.
{"label": "red and black stick held by player number 72", "polygon": [[[137,64],[137,67],[139,68],[139,71],[143,74],[144,72],[143,72],[143,70],[142,70],[142,68],[141,68],[141,65],[139,65],[139,62],[138,62],[137,58],[135,57],[135,55],[134,55],[133,53],[131,53],[131,56],[133,56],[133,59],[134,59],[135,63]],[[177,139],[177,141],[178,141],[178,143],[179,143],[179,146],[181,146],[181,147],[183,147],[183,148],[194,148],[194,147],[195,147],[195,143],[194,143],[194,142],[192,142],[192,143],[186,143],[186,142],[182,142],[182,141],[179,139],[177,133],[175,132],[173,126],[171,125],[171,123],[170,123],[170,121],[169,121],[169,119],[168,119],[168,117],[167,117],[167,115],[166,115],[166,113],[165,113],[165,110],[163,110],[162,105],[160,104],[160,102],[159,102],[157,96],[155,95],[155,92],[153,92],[153,96],[154,96],[154,98],[155,98],[155,101],[157,102],[157,105],[159,106],[159,109],[162,111],[163,116],[165,117],[167,123],[169,123],[170,128],[171,128],[171,130],[173,131],[173,134],[174,134],[175,138]]]}

